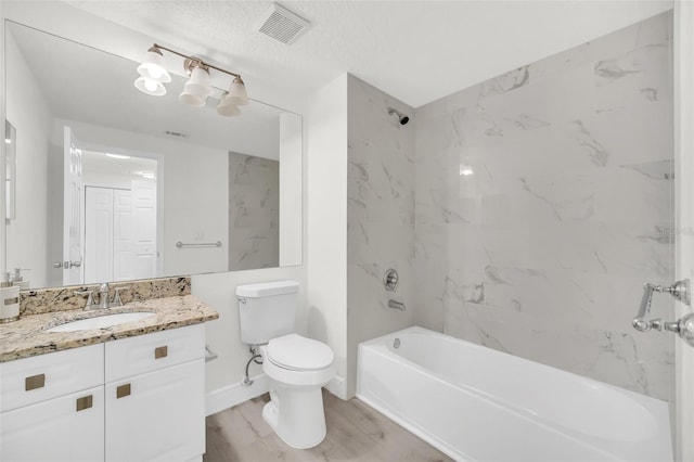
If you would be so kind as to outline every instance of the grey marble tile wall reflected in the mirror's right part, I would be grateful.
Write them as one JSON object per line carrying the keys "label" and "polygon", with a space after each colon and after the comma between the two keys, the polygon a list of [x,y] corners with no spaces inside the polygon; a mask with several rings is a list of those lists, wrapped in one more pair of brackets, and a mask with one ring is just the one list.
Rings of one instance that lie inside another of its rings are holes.
{"label": "grey marble tile wall reflected in the mirror's right part", "polygon": [[229,269],[280,266],[280,163],[229,153]]}

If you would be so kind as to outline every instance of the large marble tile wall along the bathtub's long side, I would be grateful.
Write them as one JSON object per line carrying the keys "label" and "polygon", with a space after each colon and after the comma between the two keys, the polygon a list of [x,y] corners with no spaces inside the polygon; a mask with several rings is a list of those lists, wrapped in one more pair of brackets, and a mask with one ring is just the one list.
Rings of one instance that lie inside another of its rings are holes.
{"label": "large marble tile wall along the bathtub's long side", "polygon": [[672,399],[673,335],[630,325],[674,274],[670,38],[665,13],[416,111],[419,324]]}

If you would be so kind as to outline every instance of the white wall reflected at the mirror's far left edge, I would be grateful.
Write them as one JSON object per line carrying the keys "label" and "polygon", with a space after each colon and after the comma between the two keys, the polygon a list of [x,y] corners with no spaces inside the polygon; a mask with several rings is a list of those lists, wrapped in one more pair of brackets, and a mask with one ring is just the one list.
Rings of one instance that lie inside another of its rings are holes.
{"label": "white wall reflected at the mirror's far left edge", "polygon": [[[7,268],[28,268],[33,286],[44,286],[47,255],[47,158],[51,112],[14,39],[7,37],[7,118],[16,129],[16,219],[7,227]],[[4,131],[4,124],[1,124]],[[3,182],[4,183],[4,182]],[[3,187],[4,188],[4,187]],[[4,204],[4,201],[3,201]],[[4,221],[4,220],[3,220]],[[27,239],[29,236],[30,239]]]}

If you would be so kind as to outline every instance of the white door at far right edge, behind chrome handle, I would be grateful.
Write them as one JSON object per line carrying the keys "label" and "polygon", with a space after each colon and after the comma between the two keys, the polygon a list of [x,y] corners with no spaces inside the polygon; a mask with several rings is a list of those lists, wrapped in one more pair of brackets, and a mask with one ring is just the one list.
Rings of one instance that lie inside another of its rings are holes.
{"label": "white door at far right edge, behind chrome handle", "polygon": [[[694,3],[674,3],[674,162],[677,279],[694,282]],[[676,304],[676,317],[692,312]],[[676,433],[678,461],[694,461],[694,347],[676,338]]]}

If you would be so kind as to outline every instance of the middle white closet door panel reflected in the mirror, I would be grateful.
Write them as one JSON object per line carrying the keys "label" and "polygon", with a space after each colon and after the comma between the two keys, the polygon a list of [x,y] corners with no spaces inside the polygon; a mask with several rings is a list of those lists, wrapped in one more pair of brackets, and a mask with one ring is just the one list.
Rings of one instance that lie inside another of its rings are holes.
{"label": "middle white closet door panel reflected in the mirror", "polygon": [[132,243],[132,193],[113,192],[113,280],[136,279],[134,245]]}

